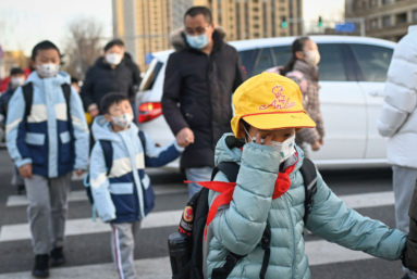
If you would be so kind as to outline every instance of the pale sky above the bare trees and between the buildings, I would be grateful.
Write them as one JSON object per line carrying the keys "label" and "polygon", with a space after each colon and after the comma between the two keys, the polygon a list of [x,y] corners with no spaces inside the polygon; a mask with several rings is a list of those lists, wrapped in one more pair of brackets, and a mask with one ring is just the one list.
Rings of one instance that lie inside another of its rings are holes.
{"label": "pale sky above the bare trees and between the buildings", "polygon": [[[340,21],[344,0],[304,0],[305,21]],[[93,17],[112,37],[111,0],[0,0],[0,46],[5,50],[23,49],[28,55],[33,46],[49,39],[63,48],[68,25],[81,16]]]}

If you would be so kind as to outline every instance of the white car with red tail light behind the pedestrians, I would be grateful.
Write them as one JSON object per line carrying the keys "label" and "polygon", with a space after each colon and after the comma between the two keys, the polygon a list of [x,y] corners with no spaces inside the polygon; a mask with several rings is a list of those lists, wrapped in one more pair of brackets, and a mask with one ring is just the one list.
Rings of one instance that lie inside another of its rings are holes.
{"label": "white car with red tail light behind the pedestrians", "polygon": [[[385,139],[377,118],[396,43],[365,37],[311,36],[321,54],[319,98],[327,136],[312,153],[320,169],[387,167]],[[242,58],[247,76],[284,65],[294,37],[229,42]],[[139,127],[164,145],[174,140],[162,116],[161,97],[170,51],[155,53],[136,96]],[[173,162],[170,166],[179,166]]]}

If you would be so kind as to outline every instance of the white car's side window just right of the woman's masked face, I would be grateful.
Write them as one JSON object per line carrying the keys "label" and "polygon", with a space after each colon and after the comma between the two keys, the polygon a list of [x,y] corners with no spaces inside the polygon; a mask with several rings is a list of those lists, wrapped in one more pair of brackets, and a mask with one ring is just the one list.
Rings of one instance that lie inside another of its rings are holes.
{"label": "white car's side window just right of the woman's masked face", "polygon": [[318,47],[321,55],[318,65],[320,68],[320,80],[347,80],[341,47],[335,43],[320,43]]}

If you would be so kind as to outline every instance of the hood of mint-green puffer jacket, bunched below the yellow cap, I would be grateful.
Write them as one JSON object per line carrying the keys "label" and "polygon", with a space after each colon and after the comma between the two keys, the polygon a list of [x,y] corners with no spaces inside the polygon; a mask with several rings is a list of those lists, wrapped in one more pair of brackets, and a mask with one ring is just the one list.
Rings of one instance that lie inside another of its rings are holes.
{"label": "hood of mint-green puffer jacket, bunched below the yellow cap", "polygon": [[[245,139],[237,139],[233,132],[224,134],[216,145],[214,164],[219,165],[222,162],[236,162],[237,164],[241,164],[241,148],[243,145],[245,145]],[[298,170],[302,167],[304,161],[303,150],[297,145],[295,145],[295,149],[297,151],[298,158],[289,158],[285,162],[283,162],[283,167],[286,168],[287,166],[294,164],[294,162],[298,161],[294,172]]]}

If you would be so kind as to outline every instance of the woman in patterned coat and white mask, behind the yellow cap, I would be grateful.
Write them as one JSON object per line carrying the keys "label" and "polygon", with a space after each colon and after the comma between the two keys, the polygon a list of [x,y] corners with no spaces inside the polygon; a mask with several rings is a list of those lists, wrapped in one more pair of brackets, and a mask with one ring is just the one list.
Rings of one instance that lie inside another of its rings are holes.
{"label": "woman in patterned coat and white mask, behind the yellow cap", "polygon": [[[310,157],[308,144],[312,151],[318,151],[324,144],[324,124],[320,110],[319,100],[319,68],[320,53],[317,43],[308,37],[296,39],[292,46],[292,58],[290,62],[280,71],[280,74],[286,76],[291,72],[302,74],[301,79],[294,79],[299,86],[303,79],[307,80],[307,89],[303,91],[303,106],[307,114],[316,123],[316,128],[305,128],[297,132],[295,142],[304,151],[306,157]],[[293,78],[294,75],[289,75]],[[295,75],[296,76],[296,75]]]}

